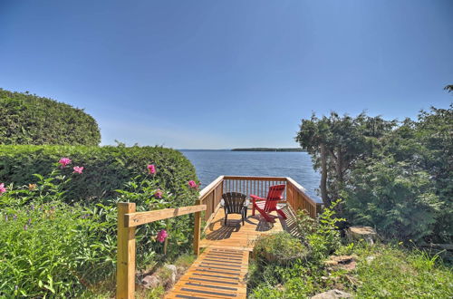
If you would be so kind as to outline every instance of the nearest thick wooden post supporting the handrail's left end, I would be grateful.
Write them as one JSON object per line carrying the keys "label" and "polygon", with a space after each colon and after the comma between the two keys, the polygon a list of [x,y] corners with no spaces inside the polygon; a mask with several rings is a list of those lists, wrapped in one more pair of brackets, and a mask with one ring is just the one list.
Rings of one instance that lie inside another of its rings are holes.
{"label": "nearest thick wooden post supporting the handrail's left end", "polygon": [[135,297],[135,227],[125,226],[125,214],[135,212],[135,203],[118,203],[118,256],[116,265],[116,297]]}

